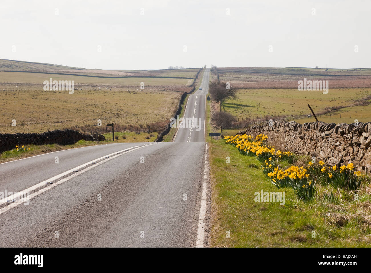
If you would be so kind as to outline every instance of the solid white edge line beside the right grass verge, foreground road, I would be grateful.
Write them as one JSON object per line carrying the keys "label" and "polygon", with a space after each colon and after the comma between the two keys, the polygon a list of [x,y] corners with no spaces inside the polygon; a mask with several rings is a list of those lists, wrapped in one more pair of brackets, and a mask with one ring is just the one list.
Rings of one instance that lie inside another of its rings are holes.
{"label": "solid white edge line beside the right grass verge, foreground road", "polygon": [[207,165],[207,142],[205,143],[205,164],[204,164],[204,177],[202,183],[202,195],[201,195],[201,204],[200,204],[200,214],[198,215],[198,228],[197,228],[197,240],[196,247],[204,247],[205,240],[205,217],[206,217],[206,202],[208,194],[208,165]]}

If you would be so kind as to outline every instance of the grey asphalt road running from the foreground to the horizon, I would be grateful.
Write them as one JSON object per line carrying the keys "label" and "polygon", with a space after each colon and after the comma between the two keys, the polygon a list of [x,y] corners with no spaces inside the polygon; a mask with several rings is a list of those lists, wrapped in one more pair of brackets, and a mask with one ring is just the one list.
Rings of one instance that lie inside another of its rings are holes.
{"label": "grey asphalt road running from the foreground to the horizon", "polygon": [[0,195],[9,196],[0,200],[0,247],[200,246],[208,82],[209,69],[185,111],[201,118],[200,130],[180,128],[175,142],[112,143],[0,164]]}

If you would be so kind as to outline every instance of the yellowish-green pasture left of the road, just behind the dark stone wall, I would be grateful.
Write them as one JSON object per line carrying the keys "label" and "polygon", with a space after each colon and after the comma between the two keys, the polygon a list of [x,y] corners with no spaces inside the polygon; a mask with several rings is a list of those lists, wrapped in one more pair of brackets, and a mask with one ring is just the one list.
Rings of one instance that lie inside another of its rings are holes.
{"label": "yellowish-green pasture left of the road, just behind the dark stone wall", "polygon": [[[1,90],[4,88],[0,84]],[[180,92],[172,91],[0,91],[1,133],[42,133],[85,124],[145,124],[173,116]],[[12,120],[16,126],[12,126]]]}

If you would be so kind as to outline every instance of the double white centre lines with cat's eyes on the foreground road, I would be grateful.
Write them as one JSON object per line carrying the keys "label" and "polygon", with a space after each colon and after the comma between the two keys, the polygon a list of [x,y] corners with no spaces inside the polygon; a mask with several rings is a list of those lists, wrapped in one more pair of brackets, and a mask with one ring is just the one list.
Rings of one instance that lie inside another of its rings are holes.
{"label": "double white centre lines with cat's eyes on the foreground road", "polygon": [[[155,143],[151,143],[151,144],[155,144]],[[147,145],[151,145],[151,144],[147,144]],[[58,185],[62,184],[63,182],[69,181],[70,179],[75,178],[76,176],[81,175],[82,173],[84,173],[84,172],[86,172],[88,170],[91,170],[92,168],[95,168],[96,166],[99,166],[99,165],[101,165],[101,164],[103,164],[103,163],[105,163],[105,162],[107,162],[107,161],[109,161],[111,159],[114,159],[114,158],[116,158],[118,156],[125,155],[126,153],[132,152],[133,150],[141,149],[141,148],[143,148],[143,147],[145,147],[147,145],[144,145],[144,146],[138,145],[138,146],[130,147],[130,148],[127,148],[127,149],[124,149],[124,150],[121,150],[121,151],[118,151],[118,152],[115,152],[115,153],[111,153],[111,154],[106,155],[106,156],[99,157],[99,158],[94,159],[92,161],[89,161],[89,162],[87,162],[85,164],[82,164],[80,166],[77,166],[77,167],[75,167],[73,169],[70,169],[70,170],[67,170],[67,171],[65,171],[63,173],[60,173],[59,175],[53,176],[52,178],[49,178],[49,179],[47,179],[45,181],[42,181],[40,183],[37,183],[36,185],[31,186],[31,187],[29,187],[27,189],[24,189],[21,192],[17,192],[17,194],[6,196],[6,198],[0,199],[0,205],[6,203],[8,200],[13,200],[13,199],[16,199],[17,202],[11,202],[6,207],[1,208],[0,209],[0,214],[4,213],[6,211],[9,211],[10,209],[12,209],[12,208],[14,208],[14,207],[22,204],[23,202],[29,201],[30,199],[34,198],[35,196],[37,196],[39,194],[42,194],[43,192],[46,192],[49,189],[52,189],[55,186],[58,186]],[[104,159],[104,160],[102,160],[102,159]],[[102,161],[100,161],[98,163],[95,163],[95,162],[97,162],[99,160],[102,160]],[[93,164],[93,163],[95,163],[95,164]],[[85,168],[85,169],[83,169],[81,171],[73,172],[73,171],[76,171],[78,169],[84,168],[84,167],[86,167],[88,165],[91,165],[91,166],[89,166],[88,168]],[[69,175],[69,174],[71,174],[71,175]],[[63,178],[62,180],[57,181],[58,179],[62,178],[63,176],[66,176],[66,175],[69,175],[69,176],[67,176],[66,178]],[[55,181],[57,181],[57,182],[55,182]],[[48,185],[48,186],[46,186],[45,188],[40,189],[37,192],[34,192],[33,194],[30,194],[27,197],[23,197],[21,199],[17,199],[17,196],[26,196],[27,193],[32,192],[32,191],[35,191],[36,189],[41,188],[42,186],[45,186],[45,185]]]}

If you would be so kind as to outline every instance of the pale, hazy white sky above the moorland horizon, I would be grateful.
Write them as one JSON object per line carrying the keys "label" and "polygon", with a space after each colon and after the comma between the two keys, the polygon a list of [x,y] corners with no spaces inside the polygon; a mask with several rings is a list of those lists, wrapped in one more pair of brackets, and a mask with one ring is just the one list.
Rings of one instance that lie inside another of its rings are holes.
{"label": "pale, hazy white sky above the moorland horizon", "polygon": [[370,0],[1,0],[0,59],[98,69],[371,67]]}

